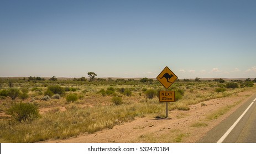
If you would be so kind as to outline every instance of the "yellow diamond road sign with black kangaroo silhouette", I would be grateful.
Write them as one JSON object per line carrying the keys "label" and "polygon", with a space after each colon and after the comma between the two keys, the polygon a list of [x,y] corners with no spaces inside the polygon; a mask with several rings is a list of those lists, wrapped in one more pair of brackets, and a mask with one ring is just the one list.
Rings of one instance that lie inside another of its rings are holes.
{"label": "yellow diamond road sign with black kangaroo silhouette", "polygon": [[178,77],[168,67],[165,67],[158,77],[156,77],[166,89],[168,89],[177,78]]}

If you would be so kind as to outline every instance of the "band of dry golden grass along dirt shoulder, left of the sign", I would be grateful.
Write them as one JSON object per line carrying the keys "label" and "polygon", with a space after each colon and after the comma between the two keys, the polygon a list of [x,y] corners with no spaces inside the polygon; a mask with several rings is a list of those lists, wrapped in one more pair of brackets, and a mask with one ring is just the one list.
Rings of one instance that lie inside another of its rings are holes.
{"label": "band of dry golden grass along dirt shoulder, left of the sign", "polygon": [[121,106],[70,107],[67,111],[48,112],[31,123],[0,122],[2,142],[38,142],[66,139],[80,133],[94,133],[113,128],[145,114],[161,113],[164,106],[155,103],[133,103]]}

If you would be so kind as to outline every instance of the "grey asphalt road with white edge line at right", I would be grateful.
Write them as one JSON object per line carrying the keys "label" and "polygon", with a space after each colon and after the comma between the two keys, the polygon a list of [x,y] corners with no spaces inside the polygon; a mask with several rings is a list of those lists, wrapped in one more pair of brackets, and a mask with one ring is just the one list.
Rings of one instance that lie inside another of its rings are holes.
{"label": "grey asphalt road with white edge line at right", "polygon": [[256,94],[197,142],[256,143]]}

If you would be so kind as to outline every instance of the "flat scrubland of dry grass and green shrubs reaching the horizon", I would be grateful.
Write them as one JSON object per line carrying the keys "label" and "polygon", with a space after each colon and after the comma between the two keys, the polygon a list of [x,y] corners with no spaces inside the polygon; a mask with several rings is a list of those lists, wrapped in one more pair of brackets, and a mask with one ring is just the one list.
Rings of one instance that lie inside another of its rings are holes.
{"label": "flat scrubland of dry grass and green shrubs reaching the horizon", "polygon": [[[89,75],[89,74],[88,74]],[[136,117],[164,117],[165,103],[159,91],[165,90],[157,80],[96,79],[90,73],[74,80],[49,80],[40,77],[0,78],[0,141],[39,142],[66,139],[82,133],[111,129]],[[176,81],[175,102],[169,111],[187,111],[190,105],[214,98],[228,97],[254,86],[255,79],[245,81]],[[216,111],[215,119],[231,106]],[[201,127],[197,123],[193,127]]]}

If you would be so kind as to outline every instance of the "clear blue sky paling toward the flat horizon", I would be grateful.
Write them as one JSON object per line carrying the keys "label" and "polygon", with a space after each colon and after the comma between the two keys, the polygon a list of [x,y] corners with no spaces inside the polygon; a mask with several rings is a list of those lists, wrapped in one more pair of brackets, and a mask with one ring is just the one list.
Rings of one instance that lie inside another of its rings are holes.
{"label": "clear blue sky paling toward the flat horizon", "polygon": [[256,1],[0,1],[0,76],[256,78]]}

